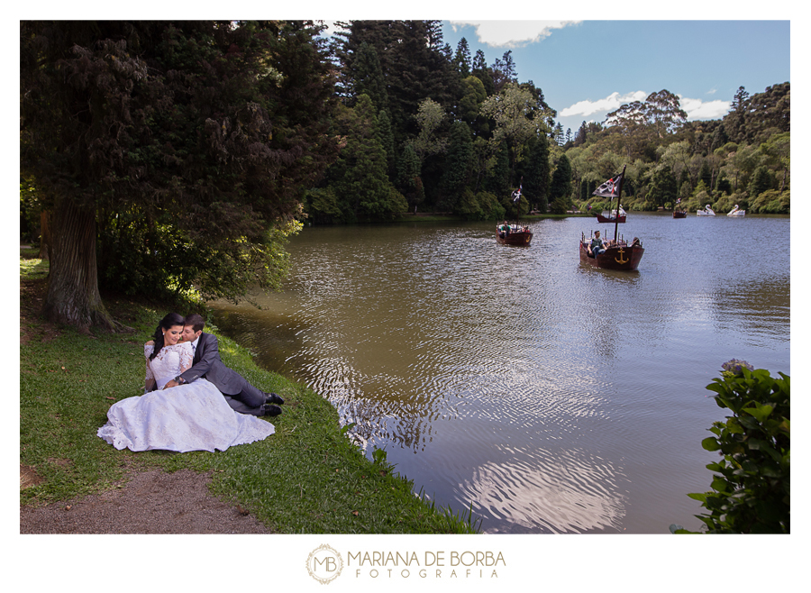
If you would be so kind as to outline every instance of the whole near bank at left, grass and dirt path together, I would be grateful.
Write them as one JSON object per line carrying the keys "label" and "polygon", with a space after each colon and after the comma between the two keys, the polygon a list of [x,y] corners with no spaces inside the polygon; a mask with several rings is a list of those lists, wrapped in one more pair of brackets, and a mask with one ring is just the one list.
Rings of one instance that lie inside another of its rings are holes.
{"label": "whole near bank at left, grass and dirt path together", "polygon": [[[225,452],[114,449],[96,429],[114,401],[141,395],[142,344],[178,306],[103,295],[110,314],[135,333],[86,335],[49,324],[39,316],[48,265],[32,251],[21,247],[21,534],[478,533],[473,517],[417,497],[385,453],[369,461],[329,401],[260,369],[215,327],[208,331],[218,336],[223,362],[284,397],[283,414],[271,419],[276,433]],[[150,522],[164,506],[174,514]],[[115,508],[129,523],[111,525]],[[90,531],[78,531],[81,516]]]}

